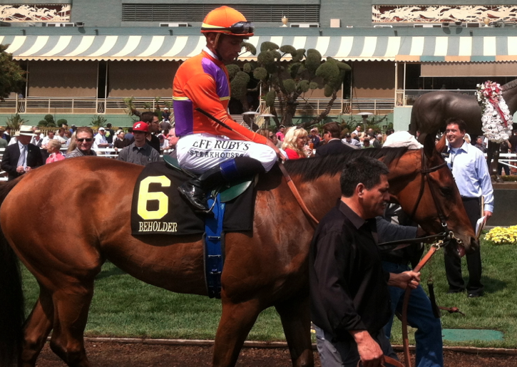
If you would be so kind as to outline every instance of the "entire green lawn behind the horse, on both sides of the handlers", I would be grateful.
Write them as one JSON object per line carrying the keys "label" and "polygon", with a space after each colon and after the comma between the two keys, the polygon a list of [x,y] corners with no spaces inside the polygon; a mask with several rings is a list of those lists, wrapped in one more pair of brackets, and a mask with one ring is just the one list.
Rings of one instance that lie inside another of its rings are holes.
{"label": "entire green lawn behind the horse, on both sides of the handlers", "polygon": [[[492,246],[482,242],[485,296],[468,299],[466,294],[446,294],[444,259],[437,253],[424,268],[422,283],[431,271],[440,306],[458,306],[466,316],[442,316],[446,329],[495,329],[504,341],[454,343],[461,346],[515,348],[517,345],[517,246]],[[464,274],[466,275],[466,262]],[[27,314],[36,300],[38,285],[24,271]],[[220,301],[204,296],[174,294],[138,281],[105,264],[96,281],[95,295],[86,326],[86,336],[213,339],[221,311]],[[392,342],[401,343],[401,326],[394,323]],[[274,309],[260,314],[250,340],[285,340]],[[453,345],[446,342],[447,345]]]}

